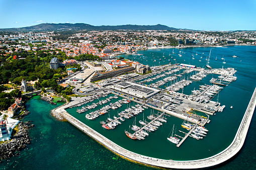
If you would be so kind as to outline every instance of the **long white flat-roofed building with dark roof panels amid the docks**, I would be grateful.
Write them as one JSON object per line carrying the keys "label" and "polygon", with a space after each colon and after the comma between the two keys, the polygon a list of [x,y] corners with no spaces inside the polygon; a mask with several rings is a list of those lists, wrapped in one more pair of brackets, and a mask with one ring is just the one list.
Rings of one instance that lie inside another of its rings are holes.
{"label": "long white flat-roofed building with dark roof panels amid the docks", "polygon": [[127,81],[118,83],[112,86],[111,88],[114,90],[118,90],[121,93],[126,93],[128,95],[131,95],[133,97],[138,97],[141,99],[143,97],[148,99],[160,92],[160,90],[139,85],[136,83],[127,82]]}

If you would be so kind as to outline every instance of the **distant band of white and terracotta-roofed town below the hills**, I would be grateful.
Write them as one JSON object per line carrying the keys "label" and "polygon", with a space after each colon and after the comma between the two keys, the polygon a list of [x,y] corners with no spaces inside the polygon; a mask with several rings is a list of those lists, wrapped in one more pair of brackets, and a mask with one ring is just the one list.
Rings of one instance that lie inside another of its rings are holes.
{"label": "distant band of white and terracotta-roofed town below the hills", "polygon": [[[255,32],[167,32],[167,31],[87,31],[69,37],[61,32],[29,32],[0,34],[1,55],[12,56],[18,51],[54,50],[67,57],[93,54],[102,60],[118,54],[134,54],[137,50],[166,47],[254,45]],[[4,50],[3,50],[4,47]],[[57,51],[58,50],[58,51]],[[22,58],[22,56],[17,56]]]}

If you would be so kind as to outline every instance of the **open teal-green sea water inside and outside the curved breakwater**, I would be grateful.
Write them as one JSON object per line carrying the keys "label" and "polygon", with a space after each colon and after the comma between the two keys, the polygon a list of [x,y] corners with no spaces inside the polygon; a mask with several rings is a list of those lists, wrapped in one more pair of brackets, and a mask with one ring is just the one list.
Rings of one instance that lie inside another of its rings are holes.
{"label": "open teal-green sea water inside and outside the curved breakwater", "polygon": [[[141,51],[139,53],[144,56],[150,57],[151,53],[154,53],[154,57],[159,54],[162,57],[163,52],[165,53],[166,60],[168,60],[168,54],[172,49],[164,49],[161,51],[148,50]],[[178,50],[175,50],[176,53]],[[192,59],[189,52],[196,51],[198,56],[204,53],[208,55],[210,48],[190,48],[182,49],[186,54],[183,57],[176,57],[176,62],[197,65],[201,63],[196,59]],[[256,74],[254,67],[256,65],[256,47],[252,46],[234,46],[229,48],[212,48],[210,65],[213,68],[221,68],[224,65],[221,61],[222,55],[224,55],[226,64],[224,68],[233,67],[237,70],[237,80],[230,83],[229,86],[224,87],[219,94],[219,102],[226,105],[226,108],[222,113],[217,113],[215,116],[210,116],[211,122],[206,125],[209,129],[207,136],[203,140],[195,140],[188,138],[180,148],[177,148],[173,143],[167,141],[170,130],[173,124],[177,126],[177,130],[183,130],[180,124],[183,122],[181,119],[175,117],[167,117],[167,123],[162,125],[156,132],[151,133],[143,141],[133,141],[127,138],[124,134],[124,129],[128,130],[129,125],[133,124],[134,118],[126,120],[123,124],[119,125],[114,130],[105,130],[99,123],[100,120],[105,120],[108,114],[100,116],[96,120],[87,120],[84,116],[86,113],[78,114],[75,112],[75,108],[68,109],[73,116],[79,118],[84,123],[91,127],[94,127],[98,132],[104,134],[106,137],[117,142],[121,146],[128,148],[132,151],[140,154],[145,154],[158,158],[174,159],[174,160],[189,160],[198,159],[211,156],[225,149],[233,140],[236,130],[240,124],[243,113],[246,110],[247,104],[250,100],[251,94],[256,85]],[[215,60],[217,55],[217,60]],[[237,58],[232,58],[236,55]],[[127,56],[130,57],[130,56]],[[140,57],[140,56],[139,56]],[[137,57],[137,58],[139,58]],[[203,55],[204,57],[204,55]],[[190,59],[191,58],[191,59]],[[195,55],[195,58],[197,56]],[[200,57],[199,57],[200,58]],[[185,62],[184,62],[185,59]],[[220,60],[218,60],[220,59]],[[170,59],[171,60],[171,59]],[[190,61],[191,60],[191,61]],[[242,62],[240,62],[242,60]],[[140,62],[144,62],[140,61]],[[182,62],[183,61],[183,62]],[[187,63],[188,62],[188,63]],[[204,64],[205,60],[202,60]],[[145,61],[144,64],[152,65],[155,62]],[[191,85],[184,88],[184,93],[189,94],[191,89],[194,87],[197,89],[199,85],[207,83],[211,76],[203,78],[202,81],[193,82]],[[102,98],[100,99],[102,100]],[[115,102],[114,99],[111,102]],[[216,97],[214,98],[216,100]],[[96,103],[96,101],[94,101]],[[60,122],[55,120],[50,115],[50,110],[57,105],[50,105],[45,101],[41,101],[38,96],[33,97],[27,102],[27,108],[31,112],[30,115],[24,118],[24,120],[33,120],[33,127],[30,130],[30,136],[32,137],[31,144],[23,151],[20,156],[12,157],[8,160],[4,160],[0,163],[0,168],[8,169],[93,169],[93,168],[107,168],[107,169],[147,169],[138,164],[128,162],[122,158],[116,158],[116,156],[109,150],[102,147],[100,144],[95,142],[92,138],[82,133],[68,122]],[[131,102],[131,105],[133,103]],[[233,109],[230,106],[233,105]],[[101,106],[99,106],[101,107]],[[127,105],[123,105],[120,110],[124,110]],[[93,110],[92,110],[93,111]],[[113,115],[117,116],[119,110],[110,112],[110,117]],[[150,114],[151,109],[144,111],[144,116]],[[156,113],[156,111],[154,111]],[[138,122],[142,119],[143,114],[140,113],[136,117]],[[231,160],[214,167],[217,169],[255,169],[254,163],[256,154],[255,150],[255,139],[254,136],[256,123],[255,116],[252,117],[249,131],[245,139],[245,143],[241,151]],[[138,124],[138,123],[137,123]],[[184,136],[182,133],[177,134]]]}

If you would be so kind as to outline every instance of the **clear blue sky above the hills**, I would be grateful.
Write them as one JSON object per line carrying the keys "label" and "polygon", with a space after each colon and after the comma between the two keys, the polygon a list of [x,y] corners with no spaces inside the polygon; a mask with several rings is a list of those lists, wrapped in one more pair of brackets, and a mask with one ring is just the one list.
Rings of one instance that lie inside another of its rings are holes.
{"label": "clear blue sky above the hills", "polygon": [[256,30],[256,0],[0,0],[0,28],[42,23],[165,25],[179,29]]}

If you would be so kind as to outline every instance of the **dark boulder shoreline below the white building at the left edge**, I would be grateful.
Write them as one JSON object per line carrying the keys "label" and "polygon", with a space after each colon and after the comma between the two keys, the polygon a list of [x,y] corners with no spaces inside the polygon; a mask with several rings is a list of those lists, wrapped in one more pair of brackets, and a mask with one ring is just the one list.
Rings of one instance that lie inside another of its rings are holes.
{"label": "dark boulder shoreline below the white building at the left edge", "polygon": [[8,140],[0,145],[0,162],[2,159],[6,159],[14,155],[18,156],[19,151],[30,144],[30,138],[27,129],[33,126],[34,124],[32,124],[30,121],[27,123],[19,123],[19,131],[12,137],[11,140]]}

